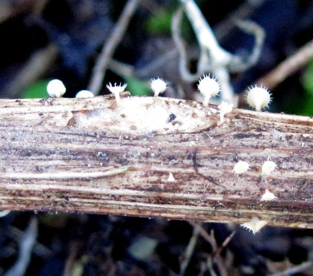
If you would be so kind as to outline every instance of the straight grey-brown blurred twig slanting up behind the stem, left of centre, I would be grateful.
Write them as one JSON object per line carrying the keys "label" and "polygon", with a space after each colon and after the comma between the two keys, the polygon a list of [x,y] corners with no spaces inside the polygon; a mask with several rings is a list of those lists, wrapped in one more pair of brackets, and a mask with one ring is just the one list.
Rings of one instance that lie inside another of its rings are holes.
{"label": "straight grey-brown blurred twig slanting up behind the stem, left of centre", "polygon": [[88,90],[90,90],[94,95],[99,94],[110,58],[114,54],[116,47],[119,45],[122,37],[124,36],[128,23],[132,18],[139,2],[140,0],[128,0],[118,22],[111,32],[111,35],[103,45],[102,51],[92,69],[92,76],[88,85]]}

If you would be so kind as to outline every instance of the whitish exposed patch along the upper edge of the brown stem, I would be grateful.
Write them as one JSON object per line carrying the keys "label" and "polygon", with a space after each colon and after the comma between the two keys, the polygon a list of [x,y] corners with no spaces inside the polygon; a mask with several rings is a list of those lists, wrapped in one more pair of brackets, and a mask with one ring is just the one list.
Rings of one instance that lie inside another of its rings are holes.
{"label": "whitish exposed patch along the upper edge of the brown stem", "polygon": [[190,108],[181,100],[169,101],[172,103],[167,104],[165,98],[123,98],[118,106],[76,113],[76,125],[100,128],[103,124],[111,131],[167,134],[175,131],[194,132],[216,123],[216,119],[207,116],[204,108]]}

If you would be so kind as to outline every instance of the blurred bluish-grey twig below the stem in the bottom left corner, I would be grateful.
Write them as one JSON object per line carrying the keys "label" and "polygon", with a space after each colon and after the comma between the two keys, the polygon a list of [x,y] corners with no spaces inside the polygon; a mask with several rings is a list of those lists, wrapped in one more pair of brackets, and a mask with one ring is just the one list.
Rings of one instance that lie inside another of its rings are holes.
{"label": "blurred bluish-grey twig below the stem in the bottom left corner", "polygon": [[33,217],[25,231],[25,236],[21,240],[19,256],[16,263],[4,274],[4,276],[22,276],[31,259],[31,253],[37,239],[37,218]]}

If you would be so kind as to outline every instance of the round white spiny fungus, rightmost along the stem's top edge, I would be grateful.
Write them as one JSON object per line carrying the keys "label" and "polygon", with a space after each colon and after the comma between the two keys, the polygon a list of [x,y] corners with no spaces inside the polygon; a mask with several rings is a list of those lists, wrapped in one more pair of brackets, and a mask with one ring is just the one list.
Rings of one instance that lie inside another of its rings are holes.
{"label": "round white spiny fungus, rightmost along the stem's top edge", "polygon": [[247,103],[249,106],[255,108],[256,111],[261,111],[263,108],[268,107],[271,102],[270,91],[263,87],[252,86],[247,91]]}

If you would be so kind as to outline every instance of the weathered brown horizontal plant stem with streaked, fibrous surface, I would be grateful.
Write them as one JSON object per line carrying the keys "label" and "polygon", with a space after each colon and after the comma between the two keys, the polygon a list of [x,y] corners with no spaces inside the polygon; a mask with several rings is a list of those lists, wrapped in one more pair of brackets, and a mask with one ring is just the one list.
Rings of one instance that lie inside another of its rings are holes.
{"label": "weathered brown horizontal plant stem with streaked, fibrous surface", "polygon": [[[235,109],[217,126],[217,111],[150,97],[0,100],[0,209],[313,228],[313,119]],[[265,176],[269,157],[278,167]],[[235,175],[238,160],[251,169]],[[265,189],[277,200],[260,202]]]}

